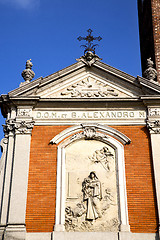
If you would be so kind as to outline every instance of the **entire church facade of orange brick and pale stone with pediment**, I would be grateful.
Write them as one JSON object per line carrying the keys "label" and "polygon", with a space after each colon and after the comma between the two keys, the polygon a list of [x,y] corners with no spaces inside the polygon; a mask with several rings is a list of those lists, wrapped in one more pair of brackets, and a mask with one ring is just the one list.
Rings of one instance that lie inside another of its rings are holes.
{"label": "entire church facade of orange brick and pale stone with pediment", "polygon": [[[91,37],[91,32],[89,32]],[[101,61],[92,45],[0,105],[0,240],[155,240],[160,223],[160,85]]]}

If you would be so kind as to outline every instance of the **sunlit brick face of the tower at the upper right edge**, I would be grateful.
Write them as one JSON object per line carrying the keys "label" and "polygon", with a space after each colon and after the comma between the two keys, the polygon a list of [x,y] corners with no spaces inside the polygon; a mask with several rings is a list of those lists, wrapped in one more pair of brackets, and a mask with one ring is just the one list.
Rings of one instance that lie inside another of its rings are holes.
{"label": "sunlit brick face of the tower at the upper right edge", "polygon": [[160,82],[160,1],[151,0],[157,80]]}

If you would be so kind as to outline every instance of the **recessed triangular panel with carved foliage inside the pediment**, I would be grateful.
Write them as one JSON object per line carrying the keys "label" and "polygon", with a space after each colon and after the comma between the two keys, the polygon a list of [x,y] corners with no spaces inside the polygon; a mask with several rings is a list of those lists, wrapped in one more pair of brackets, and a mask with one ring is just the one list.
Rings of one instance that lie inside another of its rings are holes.
{"label": "recessed triangular panel with carved foliage inside the pediment", "polygon": [[128,98],[134,94],[92,74],[77,76],[38,93],[41,98]]}

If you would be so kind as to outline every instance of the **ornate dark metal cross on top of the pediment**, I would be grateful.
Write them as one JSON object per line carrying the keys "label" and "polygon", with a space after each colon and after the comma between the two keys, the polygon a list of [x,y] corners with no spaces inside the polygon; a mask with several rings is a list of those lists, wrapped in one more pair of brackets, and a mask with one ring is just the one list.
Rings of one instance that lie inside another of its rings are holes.
{"label": "ornate dark metal cross on top of the pediment", "polygon": [[91,29],[88,29],[87,32],[88,32],[88,36],[86,36],[86,37],[81,37],[81,36],[79,36],[77,39],[78,39],[79,41],[82,41],[82,40],[87,41],[87,44],[86,44],[86,45],[81,45],[82,47],[85,47],[84,54],[85,54],[86,52],[92,52],[92,53],[95,54],[95,47],[98,46],[98,44],[93,44],[93,41],[94,41],[94,40],[101,41],[102,38],[101,38],[100,36],[99,36],[99,37],[93,37],[93,36],[91,35],[92,32],[93,32]]}

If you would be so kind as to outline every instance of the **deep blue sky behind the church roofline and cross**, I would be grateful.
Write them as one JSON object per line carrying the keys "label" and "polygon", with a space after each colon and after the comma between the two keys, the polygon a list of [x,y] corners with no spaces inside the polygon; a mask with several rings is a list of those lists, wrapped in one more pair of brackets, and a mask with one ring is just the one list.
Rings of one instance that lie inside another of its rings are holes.
{"label": "deep blue sky behind the church roofline and cross", "polygon": [[96,48],[103,62],[141,75],[137,0],[0,0],[0,94],[23,81],[27,59],[34,79],[75,63],[83,55],[77,37],[89,28],[103,38]]}

